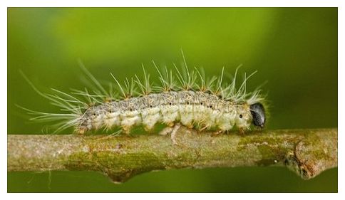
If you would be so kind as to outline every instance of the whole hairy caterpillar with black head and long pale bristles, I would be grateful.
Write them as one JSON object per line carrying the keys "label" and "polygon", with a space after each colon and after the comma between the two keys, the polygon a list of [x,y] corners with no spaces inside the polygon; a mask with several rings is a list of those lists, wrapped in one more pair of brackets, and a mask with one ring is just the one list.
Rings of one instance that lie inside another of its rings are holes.
{"label": "whole hairy caterpillar with black head and long pale bristles", "polygon": [[[24,75],[39,95],[61,108],[61,113],[29,110],[31,114],[38,115],[31,120],[58,121],[56,132],[75,127],[78,134],[101,128],[110,130],[112,127],[121,127],[123,132],[128,133],[137,125],[143,125],[145,130],[150,131],[157,123],[168,127],[175,125],[172,132],[180,125],[200,130],[215,128],[220,132],[229,131],[233,127],[244,131],[250,125],[264,127],[264,97],[260,95],[259,89],[251,93],[246,90],[247,80],[255,72],[248,77],[244,75],[237,89],[238,68],[230,83],[223,83],[224,68],[219,77],[207,79],[203,71],[197,68],[190,70],[184,56],[183,59],[183,72],[174,65],[176,75],[166,67],[163,71],[158,70],[153,62],[160,85],[150,83],[150,75],[144,67],[142,79],[135,75],[134,78],[126,78],[124,85],[110,73],[115,82],[110,84],[109,92],[83,65],[81,68],[94,84],[92,92],[85,89],[73,90],[68,94],[52,89],[54,94],[45,94],[37,90]],[[112,92],[115,86],[120,95]]]}

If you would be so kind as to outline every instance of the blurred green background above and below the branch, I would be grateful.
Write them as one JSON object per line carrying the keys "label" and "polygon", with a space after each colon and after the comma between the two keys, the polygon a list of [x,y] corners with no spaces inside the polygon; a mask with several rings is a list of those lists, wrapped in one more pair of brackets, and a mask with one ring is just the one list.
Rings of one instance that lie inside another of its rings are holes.
{"label": "blurred green background above and below the branch", "polygon": [[[9,8],[8,134],[44,134],[15,105],[56,111],[37,95],[82,89],[80,58],[99,80],[141,74],[141,63],[182,63],[207,75],[258,70],[268,129],[337,127],[336,8]],[[337,191],[337,169],[304,181],[283,167],[181,169],[112,184],[96,172],[10,172],[8,191]]]}

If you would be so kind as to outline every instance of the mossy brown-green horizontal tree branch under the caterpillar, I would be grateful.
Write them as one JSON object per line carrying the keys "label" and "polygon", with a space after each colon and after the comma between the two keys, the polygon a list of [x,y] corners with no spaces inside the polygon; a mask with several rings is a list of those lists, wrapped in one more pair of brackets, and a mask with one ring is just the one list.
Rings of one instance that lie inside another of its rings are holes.
{"label": "mossy brown-green horizontal tree branch under the caterpillar", "polygon": [[269,130],[213,136],[185,127],[161,135],[8,135],[7,170],[91,170],[115,182],[185,167],[287,166],[303,179],[337,167],[338,130]]}

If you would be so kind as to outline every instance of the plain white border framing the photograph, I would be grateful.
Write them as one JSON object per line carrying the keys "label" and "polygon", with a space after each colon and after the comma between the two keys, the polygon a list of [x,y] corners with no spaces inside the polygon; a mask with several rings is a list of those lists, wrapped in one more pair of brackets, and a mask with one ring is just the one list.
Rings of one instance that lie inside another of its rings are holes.
{"label": "plain white border framing the photograph", "polygon": [[[338,65],[342,66],[338,68],[338,102],[345,102],[344,98],[344,88],[345,88],[345,79],[342,77],[344,73],[344,6],[342,1],[320,1],[320,0],[290,0],[290,1],[277,1],[277,0],[245,0],[245,1],[221,1],[221,0],[175,0],[175,1],[159,1],[159,0],[128,0],[128,1],[107,1],[107,0],[84,0],[84,1],[73,1],[73,0],[57,0],[57,1],[44,1],[44,0],[2,0],[0,1],[1,5],[1,72],[0,72],[0,85],[1,85],[1,135],[0,135],[0,186],[1,186],[1,199],[61,199],[61,198],[83,198],[83,199],[99,199],[104,198],[105,196],[110,197],[113,194],[54,194],[46,196],[47,194],[41,195],[27,195],[23,194],[6,194],[7,192],[7,163],[6,156],[6,141],[7,141],[7,113],[4,110],[7,110],[7,7],[338,7]],[[342,56],[339,56],[342,55]],[[345,113],[345,104],[338,103],[338,113]],[[338,131],[339,131],[339,168],[338,168],[338,189],[339,194],[232,194],[233,198],[240,199],[326,199],[326,195],[332,199],[340,199],[339,197],[344,194],[344,117],[338,114]],[[78,196],[77,196],[78,195]],[[101,195],[101,196],[100,196]],[[228,197],[225,194],[115,194],[115,198],[136,198],[136,199],[175,199],[183,196],[194,198],[194,199],[215,199],[217,197]],[[192,195],[192,196],[191,196]],[[196,196],[195,196],[196,195]],[[212,195],[212,196],[211,196]],[[217,195],[215,197],[214,195]],[[308,195],[308,196],[307,196]],[[114,198],[114,196],[111,196]],[[110,198],[111,198],[110,197]],[[342,198],[344,199],[344,197]]]}

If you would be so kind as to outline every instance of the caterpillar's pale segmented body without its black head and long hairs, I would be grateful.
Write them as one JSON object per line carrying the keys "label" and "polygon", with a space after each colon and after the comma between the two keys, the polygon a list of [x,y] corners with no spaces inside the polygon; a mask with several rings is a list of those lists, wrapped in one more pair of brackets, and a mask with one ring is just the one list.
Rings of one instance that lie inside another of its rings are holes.
{"label": "caterpillar's pale segmented body without its black head and long hairs", "polygon": [[200,129],[215,127],[224,132],[235,125],[248,128],[252,115],[247,102],[224,100],[200,91],[168,91],[89,107],[78,120],[77,132],[114,126],[130,132],[136,125],[151,130],[157,123],[173,125],[175,122]]}

